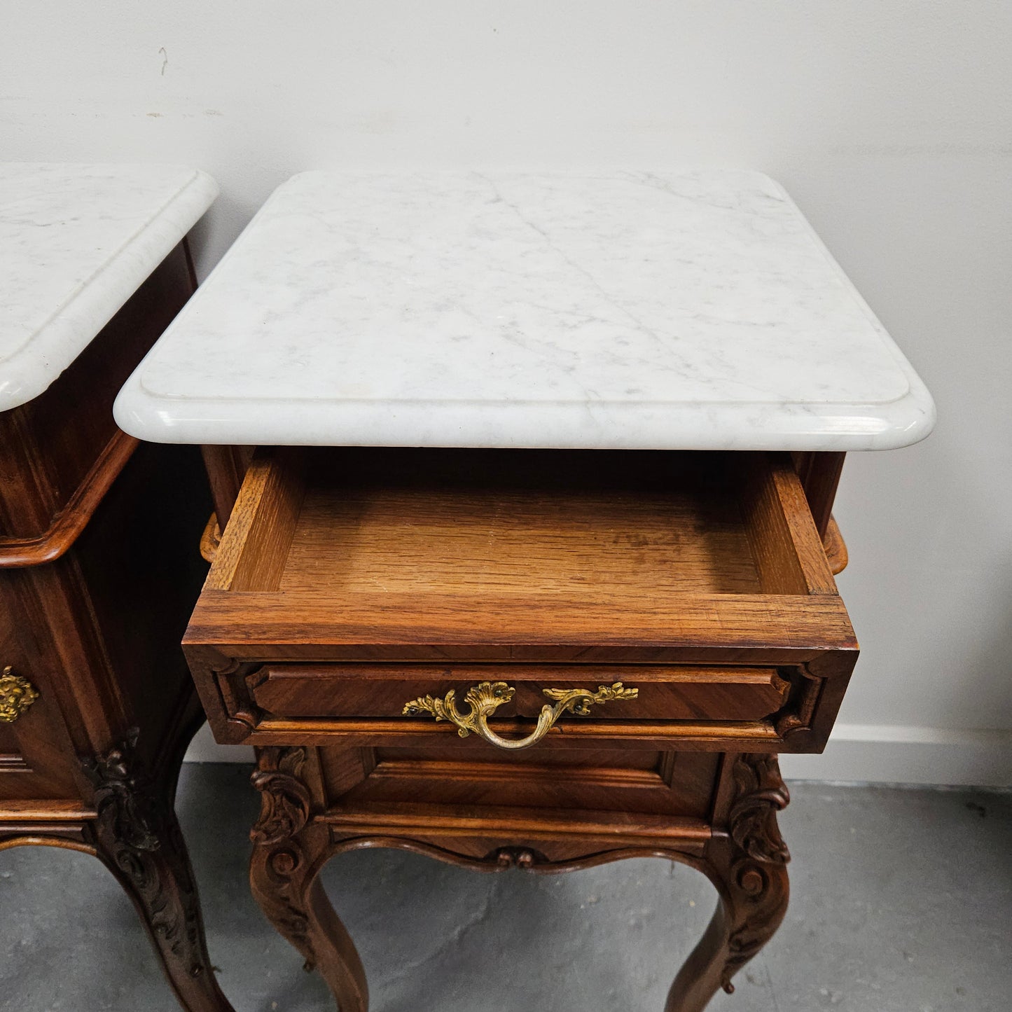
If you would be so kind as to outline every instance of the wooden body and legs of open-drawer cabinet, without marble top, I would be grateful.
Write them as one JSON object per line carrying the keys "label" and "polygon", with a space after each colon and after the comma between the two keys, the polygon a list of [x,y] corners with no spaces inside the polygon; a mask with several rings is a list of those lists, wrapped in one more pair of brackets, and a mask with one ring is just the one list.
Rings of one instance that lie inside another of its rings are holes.
{"label": "wooden body and legs of open-drawer cabinet, without marble top", "polygon": [[787,454],[676,451],[263,452],[185,649],[218,740],[258,746],[254,893],[342,1010],[316,877],[384,845],[703,870],[671,1000],[701,1007],[783,916],[771,753],[823,746],[857,656]]}

